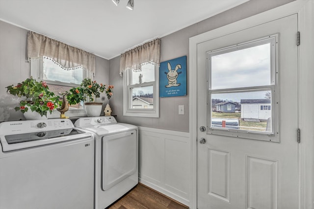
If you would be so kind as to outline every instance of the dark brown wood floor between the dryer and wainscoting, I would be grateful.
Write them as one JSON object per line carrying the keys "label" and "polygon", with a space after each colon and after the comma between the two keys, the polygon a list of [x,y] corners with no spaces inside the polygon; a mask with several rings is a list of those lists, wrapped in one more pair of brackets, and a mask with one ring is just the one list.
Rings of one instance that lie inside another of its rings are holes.
{"label": "dark brown wood floor between the dryer and wainscoting", "polygon": [[142,184],[107,209],[188,209]]}

